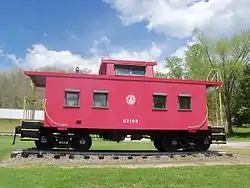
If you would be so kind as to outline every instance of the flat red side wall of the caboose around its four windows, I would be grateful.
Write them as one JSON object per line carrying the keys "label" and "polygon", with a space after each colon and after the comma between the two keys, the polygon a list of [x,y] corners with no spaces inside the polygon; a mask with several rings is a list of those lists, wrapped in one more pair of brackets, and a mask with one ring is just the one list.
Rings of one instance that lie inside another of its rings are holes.
{"label": "flat red side wall of the caboose around its four windows", "polygon": [[[107,71],[109,68],[107,67]],[[80,108],[64,108],[65,88],[80,89]],[[94,90],[108,91],[108,109],[93,109]],[[153,93],[167,94],[167,110],[154,111]],[[178,111],[178,94],[192,96],[192,111]],[[128,105],[126,97],[136,103]],[[132,80],[47,77],[46,109],[53,121],[68,127],[93,129],[187,130],[203,122],[206,115],[206,86]],[[45,113],[46,126],[53,124]],[[137,119],[138,123],[124,123]],[[81,124],[76,124],[81,120]],[[207,129],[205,122],[202,129]]]}

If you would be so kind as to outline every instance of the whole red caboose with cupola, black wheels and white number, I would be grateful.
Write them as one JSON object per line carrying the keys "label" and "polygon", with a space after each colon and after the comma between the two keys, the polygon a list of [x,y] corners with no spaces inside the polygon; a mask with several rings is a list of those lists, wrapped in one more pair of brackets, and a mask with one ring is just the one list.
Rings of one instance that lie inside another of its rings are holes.
{"label": "whole red caboose with cupola, black wheels and white number", "polygon": [[34,88],[45,88],[44,121],[24,118],[16,132],[41,149],[86,151],[90,135],[117,142],[148,137],[159,151],[225,143],[224,127],[208,125],[206,96],[208,87],[222,83],[155,78],[155,65],[102,60],[98,75],[25,71]]}

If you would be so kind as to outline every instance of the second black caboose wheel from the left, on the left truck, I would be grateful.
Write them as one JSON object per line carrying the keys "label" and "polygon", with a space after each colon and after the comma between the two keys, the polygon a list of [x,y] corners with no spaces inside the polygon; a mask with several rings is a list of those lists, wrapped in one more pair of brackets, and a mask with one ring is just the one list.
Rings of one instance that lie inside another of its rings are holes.
{"label": "second black caboose wheel from the left, on the left truck", "polygon": [[77,135],[71,141],[71,147],[79,151],[88,151],[92,146],[92,138],[89,134]]}

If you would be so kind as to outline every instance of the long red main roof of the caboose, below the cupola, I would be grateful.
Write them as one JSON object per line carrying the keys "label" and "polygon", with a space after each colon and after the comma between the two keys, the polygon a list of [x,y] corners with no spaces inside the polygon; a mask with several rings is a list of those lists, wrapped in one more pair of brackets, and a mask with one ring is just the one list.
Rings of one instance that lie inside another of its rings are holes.
{"label": "long red main roof of the caboose, below the cupola", "polygon": [[25,71],[25,75],[29,76],[36,87],[45,87],[47,77],[61,78],[78,78],[78,79],[101,79],[101,80],[127,80],[127,81],[146,81],[146,82],[165,82],[177,84],[194,84],[206,85],[207,87],[221,86],[222,82],[205,81],[205,80],[179,80],[155,77],[134,77],[134,76],[106,76],[95,74],[82,73],[65,73],[65,72],[40,72],[40,71]]}

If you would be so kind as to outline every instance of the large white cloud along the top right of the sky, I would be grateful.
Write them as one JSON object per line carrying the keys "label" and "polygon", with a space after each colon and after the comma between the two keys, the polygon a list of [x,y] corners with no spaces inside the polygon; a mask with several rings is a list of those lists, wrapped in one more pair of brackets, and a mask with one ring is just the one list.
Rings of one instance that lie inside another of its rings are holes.
{"label": "large white cloud along the top right of the sky", "polygon": [[250,26],[250,0],[104,0],[125,25],[146,21],[147,29],[171,37],[232,34]]}

